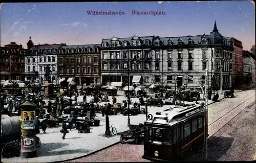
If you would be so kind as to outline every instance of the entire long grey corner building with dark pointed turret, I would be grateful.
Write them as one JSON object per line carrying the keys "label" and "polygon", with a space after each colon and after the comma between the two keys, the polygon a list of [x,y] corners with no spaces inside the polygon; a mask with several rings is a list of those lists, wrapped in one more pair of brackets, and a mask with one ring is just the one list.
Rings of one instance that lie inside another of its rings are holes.
{"label": "entire long grey corner building with dark pointed turret", "polygon": [[190,76],[200,84],[204,84],[202,80],[207,78],[209,86],[225,89],[232,82],[232,52],[232,40],[218,32],[216,22],[209,35],[135,35],[129,38],[102,39],[102,83],[118,81],[127,84],[130,76],[130,84],[156,83],[171,87],[197,85],[189,78],[174,75],[178,73]]}

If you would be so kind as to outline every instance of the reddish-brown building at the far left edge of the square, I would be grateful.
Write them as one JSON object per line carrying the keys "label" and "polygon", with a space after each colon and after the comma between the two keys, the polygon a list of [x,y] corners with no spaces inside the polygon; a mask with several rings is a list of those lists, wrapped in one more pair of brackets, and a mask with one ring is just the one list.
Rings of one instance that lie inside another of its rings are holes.
{"label": "reddish-brown building at the far left edge of the square", "polygon": [[24,55],[23,46],[11,42],[1,47],[1,80],[24,80]]}

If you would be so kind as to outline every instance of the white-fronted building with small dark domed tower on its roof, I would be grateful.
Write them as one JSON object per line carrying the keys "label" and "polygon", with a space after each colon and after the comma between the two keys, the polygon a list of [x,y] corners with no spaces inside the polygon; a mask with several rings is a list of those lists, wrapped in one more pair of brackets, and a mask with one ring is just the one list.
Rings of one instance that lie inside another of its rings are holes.
{"label": "white-fronted building with small dark domed tower on its roof", "polygon": [[[47,66],[50,67],[50,77],[53,83],[57,82],[57,54],[60,46],[66,44],[38,44],[34,45],[31,37],[27,43],[28,53],[25,58],[25,72],[27,74],[27,80],[31,80],[34,77],[35,72],[38,73],[39,81],[46,80],[45,73]],[[36,77],[37,78],[37,77]]]}

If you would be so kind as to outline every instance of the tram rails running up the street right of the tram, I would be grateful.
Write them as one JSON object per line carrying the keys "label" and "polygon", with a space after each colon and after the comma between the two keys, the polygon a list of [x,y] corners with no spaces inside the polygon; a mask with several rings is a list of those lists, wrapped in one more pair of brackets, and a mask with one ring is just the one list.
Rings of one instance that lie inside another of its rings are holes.
{"label": "tram rails running up the street right of the tram", "polygon": [[[212,122],[208,125],[208,133],[210,138],[214,134],[216,134],[218,131],[220,131],[226,124],[228,124],[230,121],[232,121],[234,118],[237,117],[237,115],[242,112],[245,108],[253,105],[255,103],[255,99],[252,100],[255,97],[255,94],[253,96],[250,96],[247,100],[243,101],[236,107],[229,110],[227,113],[223,114],[220,118],[218,118],[216,121]],[[234,113],[234,114],[232,114]],[[228,117],[228,115],[232,115],[231,118]],[[226,117],[226,118],[225,118]],[[217,130],[216,130],[217,128]]]}

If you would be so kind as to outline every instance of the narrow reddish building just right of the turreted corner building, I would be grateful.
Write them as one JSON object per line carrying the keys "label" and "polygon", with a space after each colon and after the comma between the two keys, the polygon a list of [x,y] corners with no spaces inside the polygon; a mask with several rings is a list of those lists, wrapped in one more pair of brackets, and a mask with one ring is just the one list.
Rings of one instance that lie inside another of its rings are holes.
{"label": "narrow reddish building just right of the turreted corner building", "polygon": [[238,86],[241,83],[241,78],[243,76],[243,45],[242,42],[236,38],[231,38],[233,40],[233,83],[234,86]]}

